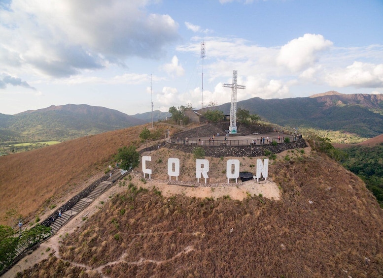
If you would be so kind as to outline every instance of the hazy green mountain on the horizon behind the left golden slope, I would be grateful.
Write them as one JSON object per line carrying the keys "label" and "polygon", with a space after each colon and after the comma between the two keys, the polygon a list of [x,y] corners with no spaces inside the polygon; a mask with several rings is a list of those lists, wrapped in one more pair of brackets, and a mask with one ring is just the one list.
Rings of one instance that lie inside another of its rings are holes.
{"label": "hazy green mountain on the horizon behind the left golden slope", "polygon": [[68,140],[145,124],[114,109],[86,104],[52,105],[16,115],[0,115],[0,142]]}

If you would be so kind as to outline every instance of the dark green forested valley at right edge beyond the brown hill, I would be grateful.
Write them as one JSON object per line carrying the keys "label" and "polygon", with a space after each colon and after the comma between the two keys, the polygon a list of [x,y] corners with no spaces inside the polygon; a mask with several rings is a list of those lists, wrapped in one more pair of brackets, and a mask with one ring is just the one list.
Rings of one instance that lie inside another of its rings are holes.
{"label": "dark green forested valley at right edge beyond the brown hill", "polygon": [[343,166],[361,178],[383,208],[383,144],[343,149],[348,159]]}

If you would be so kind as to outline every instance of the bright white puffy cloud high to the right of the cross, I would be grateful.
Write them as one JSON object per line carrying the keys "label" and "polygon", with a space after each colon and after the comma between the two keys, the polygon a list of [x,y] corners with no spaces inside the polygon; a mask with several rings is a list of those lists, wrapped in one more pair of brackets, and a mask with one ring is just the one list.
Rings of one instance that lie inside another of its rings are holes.
{"label": "bright white puffy cloud high to the right of the cross", "polygon": [[289,41],[280,48],[277,63],[292,72],[313,66],[318,60],[318,53],[328,49],[333,43],[319,34],[304,34]]}

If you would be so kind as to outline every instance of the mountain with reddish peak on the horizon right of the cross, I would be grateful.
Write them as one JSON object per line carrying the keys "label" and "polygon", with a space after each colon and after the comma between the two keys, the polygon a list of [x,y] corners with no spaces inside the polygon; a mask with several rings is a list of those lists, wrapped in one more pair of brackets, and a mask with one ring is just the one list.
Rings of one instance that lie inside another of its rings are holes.
{"label": "mountain with reddish peak on the horizon right of the cross", "polygon": [[[216,108],[230,114],[230,103]],[[330,91],[311,97],[254,97],[239,101],[237,108],[249,110],[251,114],[282,126],[343,130],[363,137],[383,133],[383,94]]]}

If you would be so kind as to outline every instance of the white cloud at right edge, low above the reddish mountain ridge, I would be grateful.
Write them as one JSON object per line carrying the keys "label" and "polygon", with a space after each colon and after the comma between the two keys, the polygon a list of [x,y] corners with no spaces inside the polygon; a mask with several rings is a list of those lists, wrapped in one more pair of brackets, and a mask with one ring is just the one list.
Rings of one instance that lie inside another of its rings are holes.
{"label": "white cloud at right edge, low above the reddish mountain ridge", "polygon": [[330,72],[326,81],[336,87],[383,88],[383,63],[353,62],[344,69]]}

